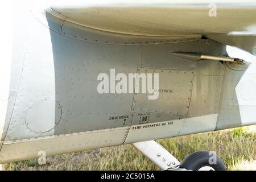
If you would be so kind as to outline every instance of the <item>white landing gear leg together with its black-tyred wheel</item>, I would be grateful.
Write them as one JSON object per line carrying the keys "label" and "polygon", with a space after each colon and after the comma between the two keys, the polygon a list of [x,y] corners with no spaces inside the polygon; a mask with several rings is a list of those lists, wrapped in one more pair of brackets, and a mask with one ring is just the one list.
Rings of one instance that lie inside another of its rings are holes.
{"label": "white landing gear leg together with its black-tyred wheel", "polygon": [[132,144],[162,170],[226,171],[219,156],[210,151],[197,151],[189,155],[182,164],[154,140]]}

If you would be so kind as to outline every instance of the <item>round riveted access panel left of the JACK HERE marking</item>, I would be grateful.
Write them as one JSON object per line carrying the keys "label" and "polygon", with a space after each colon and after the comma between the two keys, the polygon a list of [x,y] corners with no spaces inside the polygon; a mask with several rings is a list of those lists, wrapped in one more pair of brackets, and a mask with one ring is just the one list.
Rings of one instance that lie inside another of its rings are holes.
{"label": "round riveted access panel left of the JACK HERE marking", "polygon": [[52,130],[60,122],[61,114],[58,102],[52,98],[43,98],[28,107],[25,123],[31,131],[44,133]]}

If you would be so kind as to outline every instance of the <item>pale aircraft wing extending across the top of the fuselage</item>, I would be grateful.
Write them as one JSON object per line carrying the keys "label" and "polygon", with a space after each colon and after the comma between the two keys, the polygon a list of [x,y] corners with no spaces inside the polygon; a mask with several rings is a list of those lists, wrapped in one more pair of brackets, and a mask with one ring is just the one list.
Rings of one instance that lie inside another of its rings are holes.
{"label": "pale aircraft wing extending across the top of the fuselage", "polygon": [[144,36],[204,35],[256,54],[255,1],[75,0],[59,1],[51,8],[65,21],[97,30]]}

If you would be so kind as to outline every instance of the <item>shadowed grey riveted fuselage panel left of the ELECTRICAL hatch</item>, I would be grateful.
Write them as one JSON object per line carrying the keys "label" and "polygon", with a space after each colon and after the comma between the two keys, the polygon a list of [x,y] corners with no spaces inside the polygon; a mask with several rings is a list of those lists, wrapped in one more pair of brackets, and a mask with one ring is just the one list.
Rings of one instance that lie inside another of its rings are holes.
{"label": "shadowed grey riveted fuselage panel left of the ELECTRICAL hatch", "polygon": [[63,108],[63,119],[55,134],[130,126],[133,94],[100,94],[97,76],[110,75],[111,68],[115,68],[115,74],[135,73],[141,46],[86,43],[55,32],[52,43],[56,100]]}

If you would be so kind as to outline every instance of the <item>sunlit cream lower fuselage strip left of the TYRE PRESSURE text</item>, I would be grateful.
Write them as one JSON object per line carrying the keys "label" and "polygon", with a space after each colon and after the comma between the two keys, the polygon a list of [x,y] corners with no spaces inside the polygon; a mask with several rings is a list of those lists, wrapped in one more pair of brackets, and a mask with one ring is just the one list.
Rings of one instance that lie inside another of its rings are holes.
{"label": "sunlit cream lower fuselage strip left of the TYRE PRESSURE text", "polygon": [[123,139],[121,136],[126,130],[127,128],[123,127],[5,142],[0,153],[0,163],[38,158],[39,151],[44,151],[47,156],[51,156],[119,145]]}

